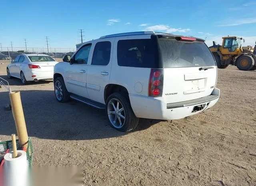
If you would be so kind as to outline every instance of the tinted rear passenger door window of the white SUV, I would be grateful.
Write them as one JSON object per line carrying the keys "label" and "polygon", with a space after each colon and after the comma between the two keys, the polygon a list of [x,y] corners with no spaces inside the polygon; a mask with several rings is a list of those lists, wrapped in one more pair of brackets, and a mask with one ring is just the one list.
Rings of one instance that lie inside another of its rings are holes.
{"label": "tinted rear passenger door window of the white SUV", "polygon": [[110,42],[98,42],[94,47],[92,65],[108,65],[111,53]]}

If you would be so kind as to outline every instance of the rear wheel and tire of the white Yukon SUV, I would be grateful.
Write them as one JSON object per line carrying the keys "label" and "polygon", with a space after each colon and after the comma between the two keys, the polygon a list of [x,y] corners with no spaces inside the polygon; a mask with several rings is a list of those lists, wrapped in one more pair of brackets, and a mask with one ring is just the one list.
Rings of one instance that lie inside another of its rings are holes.
{"label": "rear wheel and tire of the white Yukon SUV", "polygon": [[106,116],[114,129],[129,132],[136,129],[139,118],[132,111],[129,99],[124,93],[112,93],[106,101]]}

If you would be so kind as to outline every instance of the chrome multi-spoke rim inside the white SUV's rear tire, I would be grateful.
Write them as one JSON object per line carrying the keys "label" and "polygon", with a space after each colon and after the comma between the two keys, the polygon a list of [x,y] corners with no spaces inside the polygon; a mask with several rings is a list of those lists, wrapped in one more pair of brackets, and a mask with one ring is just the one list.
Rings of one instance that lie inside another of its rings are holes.
{"label": "chrome multi-spoke rim inside the white SUV's rear tire", "polygon": [[125,123],[125,112],[122,103],[118,99],[111,99],[108,102],[108,119],[113,127],[120,129]]}

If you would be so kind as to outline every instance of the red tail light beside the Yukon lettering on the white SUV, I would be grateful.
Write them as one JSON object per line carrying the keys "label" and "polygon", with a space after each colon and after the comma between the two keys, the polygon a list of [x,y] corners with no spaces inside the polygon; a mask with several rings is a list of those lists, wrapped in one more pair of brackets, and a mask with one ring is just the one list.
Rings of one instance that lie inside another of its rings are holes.
{"label": "red tail light beside the Yukon lettering on the white SUV", "polygon": [[148,96],[161,97],[163,93],[163,69],[151,69],[148,82]]}

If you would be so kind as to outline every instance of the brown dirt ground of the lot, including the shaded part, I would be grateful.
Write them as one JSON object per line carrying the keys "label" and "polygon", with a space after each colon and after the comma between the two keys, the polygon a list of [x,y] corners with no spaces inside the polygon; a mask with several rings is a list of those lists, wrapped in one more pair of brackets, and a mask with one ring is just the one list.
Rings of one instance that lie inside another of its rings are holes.
{"label": "brown dirt ground of the lot, including the shaded part", "polygon": [[[85,185],[256,185],[256,71],[219,69],[214,107],[172,123],[140,119],[132,133],[112,129],[102,110],[58,103],[52,81],[9,82],[21,91],[34,165],[82,166]],[[0,89],[0,140],[15,133],[9,102]]]}

